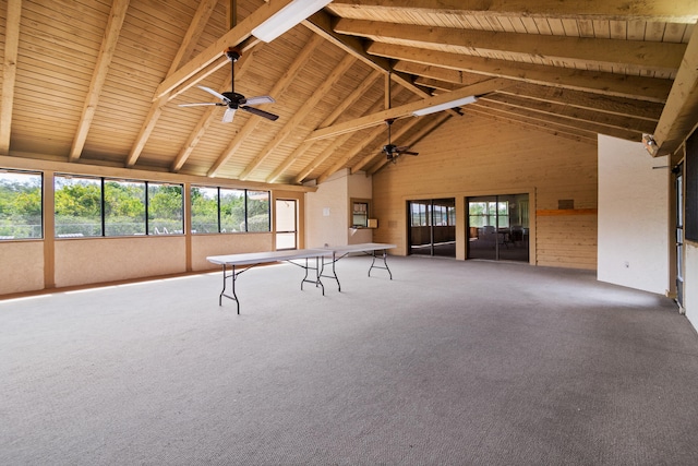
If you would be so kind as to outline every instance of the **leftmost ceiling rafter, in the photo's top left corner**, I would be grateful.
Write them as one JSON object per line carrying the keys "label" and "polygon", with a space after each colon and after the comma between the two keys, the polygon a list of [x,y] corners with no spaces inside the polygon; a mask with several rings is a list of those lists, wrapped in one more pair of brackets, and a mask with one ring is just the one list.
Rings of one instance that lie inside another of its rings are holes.
{"label": "leftmost ceiling rafter, in the photo's top left corner", "polygon": [[10,152],[12,108],[14,107],[14,83],[17,76],[20,47],[20,20],[22,0],[8,0],[4,24],[4,59],[2,62],[2,95],[0,95],[0,154]]}

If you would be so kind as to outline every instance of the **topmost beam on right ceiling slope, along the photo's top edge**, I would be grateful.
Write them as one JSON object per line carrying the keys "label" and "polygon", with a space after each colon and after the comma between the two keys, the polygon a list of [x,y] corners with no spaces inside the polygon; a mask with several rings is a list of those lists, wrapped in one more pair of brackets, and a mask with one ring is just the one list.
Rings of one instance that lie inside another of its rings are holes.
{"label": "topmost beam on right ceiling slope, along the photo's top edge", "polygon": [[530,17],[564,17],[592,20],[651,20],[693,24],[698,21],[698,1],[633,2],[627,0],[587,0],[566,2],[559,0],[412,0],[406,5],[402,0],[334,0],[330,9],[339,15],[351,9],[380,14],[405,9],[421,10],[420,13],[502,15]]}

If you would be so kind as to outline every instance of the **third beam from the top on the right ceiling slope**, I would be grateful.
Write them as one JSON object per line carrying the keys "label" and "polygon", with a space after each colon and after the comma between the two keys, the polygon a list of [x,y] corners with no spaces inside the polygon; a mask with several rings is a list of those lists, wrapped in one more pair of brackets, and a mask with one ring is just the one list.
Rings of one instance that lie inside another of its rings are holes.
{"label": "third beam from the top on the right ceiling slope", "polygon": [[542,64],[484,59],[480,57],[464,57],[458,53],[378,43],[372,44],[368,51],[369,53],[390,57],[396,60],[407,60],[489,76],[506,77],[519,82],[661,104],[666,100],[672,83],[671,80],[658,77],[628,76],[601,71],[564,69]]}

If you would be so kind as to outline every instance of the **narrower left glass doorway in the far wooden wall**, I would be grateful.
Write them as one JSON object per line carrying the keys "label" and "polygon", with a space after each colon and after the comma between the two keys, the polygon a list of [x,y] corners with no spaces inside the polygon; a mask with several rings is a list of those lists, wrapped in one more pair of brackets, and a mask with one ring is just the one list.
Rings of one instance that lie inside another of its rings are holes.
{"label": "narrower left glass doorway in the far wooden wall", "polygon": [[408,243],[410,254],[456,256],[456,200],[409,201]]}

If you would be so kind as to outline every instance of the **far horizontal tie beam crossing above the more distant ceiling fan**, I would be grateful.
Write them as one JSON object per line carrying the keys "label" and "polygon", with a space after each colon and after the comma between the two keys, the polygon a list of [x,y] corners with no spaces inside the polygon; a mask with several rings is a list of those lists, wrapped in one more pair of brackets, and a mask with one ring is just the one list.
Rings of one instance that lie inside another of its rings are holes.
{"label": "far horizontal tie beam crossing above the more distant ceiling fan", "polygon": [[315,130],[306,139],[317,140],[317,139],[324,139],[324,138],[332,138],[338,134],[344,134],[351,131],[375,127],[376,124],[381,124],[389,118],[409,117],[412,115],[414,110],[419,110],[421,108],[445,104],[445,103],[456,100],[462,97],[468,97],[471,95],[488,94],[488,93],[504,88],[508,85],[512,85],[510,81],[493,77],[470,86],[462,87],[458,91],[443,93],[437,96],[428,97],[423,100],[417,100],[410,104],[401,105],[399,107],[383,110],[373,115],[368,115],[365,117],[357,118],[354,120],[346,121],[344,123],[334,124],[332,127],[324,128],[321,130]]}

